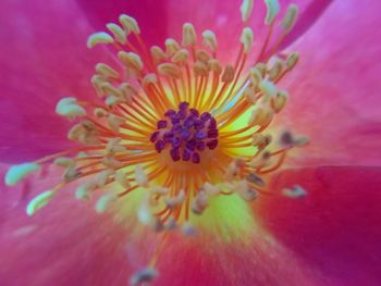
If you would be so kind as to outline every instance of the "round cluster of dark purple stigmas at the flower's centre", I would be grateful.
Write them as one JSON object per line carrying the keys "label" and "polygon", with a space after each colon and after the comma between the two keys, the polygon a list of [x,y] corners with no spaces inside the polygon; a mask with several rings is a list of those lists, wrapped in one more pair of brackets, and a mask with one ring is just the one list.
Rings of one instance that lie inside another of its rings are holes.
{"label": "round cluster of dark purple stigmas at the flower's centre", "polygon": [[189,103],[183,101],[177,112],[170,109],[164,113],[164,119],[158,121],[150,141],[159,153],[169,148],[173,161],[197,164],[201,151],[216,149],[218,136],[214,117],[209,112],[200,114],[197,109],[189,109]]}

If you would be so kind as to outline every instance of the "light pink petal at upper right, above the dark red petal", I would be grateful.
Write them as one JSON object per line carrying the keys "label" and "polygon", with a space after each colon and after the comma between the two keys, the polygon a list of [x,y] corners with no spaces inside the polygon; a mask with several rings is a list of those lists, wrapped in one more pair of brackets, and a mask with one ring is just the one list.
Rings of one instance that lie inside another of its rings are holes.
{"label": "light pink petal at upper right, above the dark red petal", "polygon": [[302,60],[284,80],[292,97],[279,123],[311,137],[298,161],[380,164],[380,9],[335,1],[291,47]]}

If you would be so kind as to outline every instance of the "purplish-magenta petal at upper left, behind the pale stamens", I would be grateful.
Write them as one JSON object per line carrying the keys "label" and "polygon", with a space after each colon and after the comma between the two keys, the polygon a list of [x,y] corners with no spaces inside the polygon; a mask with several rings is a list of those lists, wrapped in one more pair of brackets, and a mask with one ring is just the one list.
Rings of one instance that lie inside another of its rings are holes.
{"label": "purplish-magenta petal at upper left, behind the pale stamens", "polygon": [[0,159],[17,162],[67,146],[70,124],[54,105],[93,95],[101,57],[86,48],[91,28],[74,1],[4,0],[0,11]]}

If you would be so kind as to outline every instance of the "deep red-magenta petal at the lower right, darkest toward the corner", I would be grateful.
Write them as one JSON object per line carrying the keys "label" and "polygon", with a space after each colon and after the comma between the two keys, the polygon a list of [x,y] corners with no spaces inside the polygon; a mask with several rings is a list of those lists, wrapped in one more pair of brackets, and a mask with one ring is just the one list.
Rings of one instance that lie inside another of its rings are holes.
{"label": "deep red-magenta petal at the lower right, darkest toward the corner", "polygon": [[270,232],[332,284],[379,285],[381,169],[316,167],[285,171],[272,190],[300,185],[304,199],[262,198]]}

